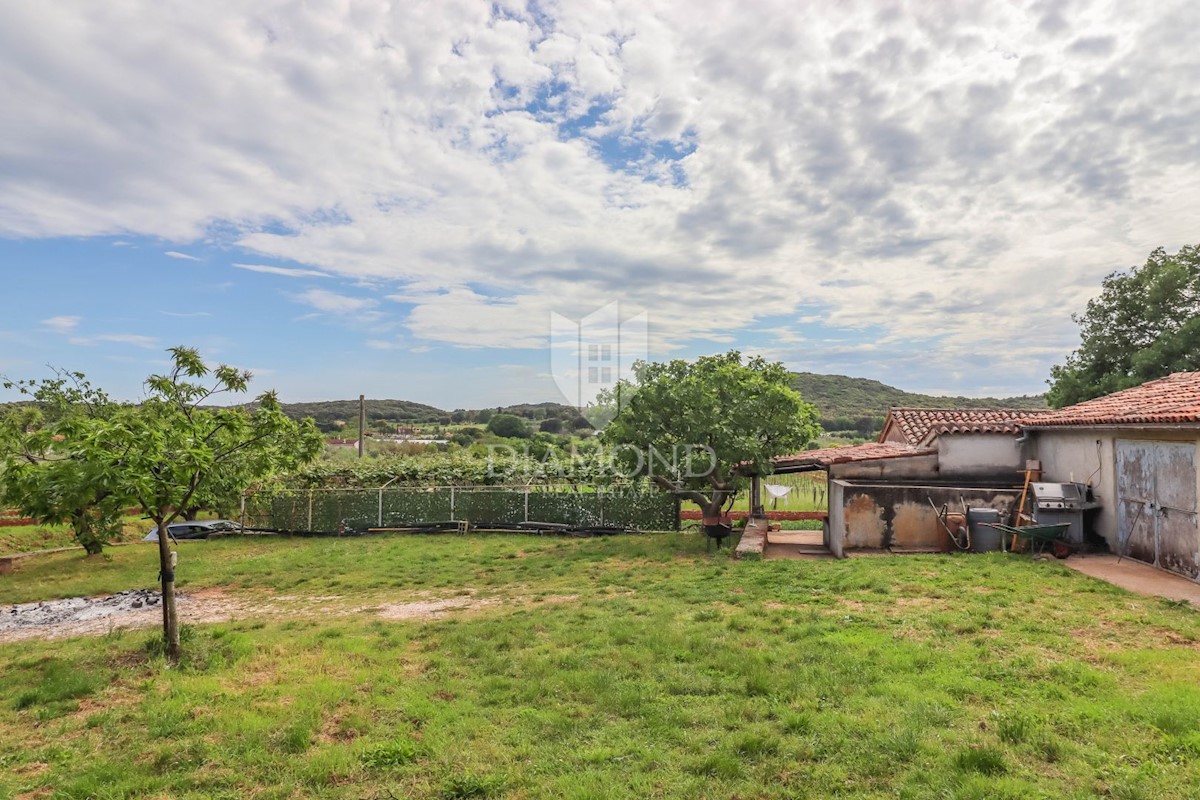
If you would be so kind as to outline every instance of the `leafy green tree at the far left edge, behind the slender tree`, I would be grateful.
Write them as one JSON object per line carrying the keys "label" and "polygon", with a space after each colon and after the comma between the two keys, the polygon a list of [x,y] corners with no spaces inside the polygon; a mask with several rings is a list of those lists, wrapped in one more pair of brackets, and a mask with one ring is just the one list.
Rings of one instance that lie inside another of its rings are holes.
{"label": "leafy green tree at the far left edge, behind the slender tree", "polygon": [[89,555],[120,533],[125,498],[106,480],[108,464],[86,457],[118,405],[82,373],[4,381],[32,398],[0,419],[0,500],[41,524],[68,524]]}

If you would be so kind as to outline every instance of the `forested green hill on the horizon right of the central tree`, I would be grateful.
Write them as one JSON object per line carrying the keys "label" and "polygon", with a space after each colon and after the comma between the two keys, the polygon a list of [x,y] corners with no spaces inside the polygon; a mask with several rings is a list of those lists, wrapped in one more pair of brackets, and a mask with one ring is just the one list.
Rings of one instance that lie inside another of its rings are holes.
{"label": "forested green hill on the horizon right of the central tree", "polygon": [[868,378],[792,373],[792,386],[817,407],[823,419],[887,416],[892,407],[906,408],[1045,408],[1044,395],[1021,397],[940,397],[906,392]]}

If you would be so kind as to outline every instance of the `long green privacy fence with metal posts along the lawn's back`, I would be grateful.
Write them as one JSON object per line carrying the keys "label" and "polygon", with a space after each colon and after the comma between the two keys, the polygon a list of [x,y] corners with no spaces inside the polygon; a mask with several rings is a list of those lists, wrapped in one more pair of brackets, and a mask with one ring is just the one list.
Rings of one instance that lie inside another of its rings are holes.
{"label": "long green privacy fence with metal posts along the lawn's back", "polygon": [[646,487],[396,487],[247,494],[242,524],[264,530],[335,531],[467,522],[542,522],[575,528],[674,530],[672,494]]}

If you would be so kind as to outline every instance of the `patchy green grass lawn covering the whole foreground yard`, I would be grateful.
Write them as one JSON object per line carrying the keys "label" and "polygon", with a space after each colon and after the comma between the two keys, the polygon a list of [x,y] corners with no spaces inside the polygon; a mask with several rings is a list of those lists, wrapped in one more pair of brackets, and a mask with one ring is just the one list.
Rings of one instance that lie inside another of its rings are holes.
{"label": "patchy green grass lawn covering the whole foreground yard", "polygon": [[[1055,563],[733,563],[695,534],[180,553],[182,591],[276,610],[186,628],[179,669],[151,631],[0,645],[0,796],[1200,795],[1200,616]],[[156,571],[31,559],[0,613]]]}

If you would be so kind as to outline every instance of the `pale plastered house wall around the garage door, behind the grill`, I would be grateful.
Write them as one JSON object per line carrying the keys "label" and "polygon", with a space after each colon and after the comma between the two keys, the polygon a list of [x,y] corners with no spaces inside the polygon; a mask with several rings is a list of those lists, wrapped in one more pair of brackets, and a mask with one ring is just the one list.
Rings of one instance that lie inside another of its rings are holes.
{"label": "pale plastered house wall around the garage door, behind the grill", "polygon": [[[1078,481],[1092,487],[1103,504],[1096,519],[1096,533],[1109,549],[1118,552],[1116,441],[1182,441],[1200,444],[1200,428],[1048,428],[1030,431],[1033,455],[1042,462],[1042,480]],[[1200,487],[1198,487],[1200,491]]]}

